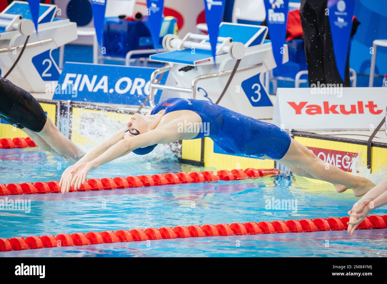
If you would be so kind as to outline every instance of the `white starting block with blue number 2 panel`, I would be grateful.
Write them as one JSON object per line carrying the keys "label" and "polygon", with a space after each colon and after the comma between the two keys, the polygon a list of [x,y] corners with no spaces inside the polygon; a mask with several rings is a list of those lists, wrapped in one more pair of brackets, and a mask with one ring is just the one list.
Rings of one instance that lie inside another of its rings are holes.
{"label": "white starting block with blue number 2 panel", "polygon": [[38,34],[27,2],[14,1],[0,13],[1,76],[14,65],[30,36],[20,61],[7,77],[26,91],[43,93],[46,83],[58,81],[60,70],[51,51],[77,39],[77,24],[55,18],[56,12],[56,5],[40,4]]}

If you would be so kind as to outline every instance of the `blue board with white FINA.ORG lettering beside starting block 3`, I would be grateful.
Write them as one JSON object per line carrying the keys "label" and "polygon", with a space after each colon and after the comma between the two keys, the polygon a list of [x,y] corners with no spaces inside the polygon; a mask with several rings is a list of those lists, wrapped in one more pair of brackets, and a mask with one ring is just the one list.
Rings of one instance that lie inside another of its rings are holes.
{"label": "blue board with white FINA.ORG lettering beside starting block 3", "polygon": [[[66,62],[58,85],[50,88],[54,100],[140,105],[150,93],[151,74],[156,69]],[[167,77],[164,75],[160,83],[165,84]],[[156,104],[161,93],[157,91]]]}

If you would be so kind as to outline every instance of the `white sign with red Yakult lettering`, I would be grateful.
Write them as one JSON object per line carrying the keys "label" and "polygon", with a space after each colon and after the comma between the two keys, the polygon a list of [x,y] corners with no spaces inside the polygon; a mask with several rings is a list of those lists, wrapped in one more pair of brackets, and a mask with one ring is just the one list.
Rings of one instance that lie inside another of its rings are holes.
{"label": "white sign with red Yakult lettering", "polygon": [[340,95],[279,88],[273,123],[295,130],[373,130],[386,104],[385,88],[342,88]]}

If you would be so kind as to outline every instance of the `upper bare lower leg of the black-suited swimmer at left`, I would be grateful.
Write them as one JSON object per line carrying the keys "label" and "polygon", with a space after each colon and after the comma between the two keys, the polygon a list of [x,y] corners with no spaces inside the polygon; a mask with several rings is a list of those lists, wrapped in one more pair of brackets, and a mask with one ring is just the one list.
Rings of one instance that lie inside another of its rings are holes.
{"label": "upper bare lower leg of the black-suited swimmer at left", "polygon": [[70,159],[78,161],[84,156],[84,152],[79,149],[70,139],[62,134],[55,126],[50,117],[47,117],[45,126],[40,132],[36,133],[45,142],[59,154],[66,156]]}

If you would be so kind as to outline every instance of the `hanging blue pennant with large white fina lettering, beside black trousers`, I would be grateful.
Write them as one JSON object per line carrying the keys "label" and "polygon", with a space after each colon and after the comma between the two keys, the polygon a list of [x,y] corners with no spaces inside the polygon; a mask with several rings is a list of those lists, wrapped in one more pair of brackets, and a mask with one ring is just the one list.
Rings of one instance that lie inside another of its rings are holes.
{"label": "hanging blue pennant with large white fina lettering, beside black trousers", "polygon": [[271,46],[277,66],[282,64],[289,0],[264,0],[266,23],[269,28]]}

